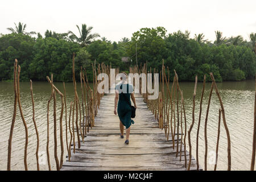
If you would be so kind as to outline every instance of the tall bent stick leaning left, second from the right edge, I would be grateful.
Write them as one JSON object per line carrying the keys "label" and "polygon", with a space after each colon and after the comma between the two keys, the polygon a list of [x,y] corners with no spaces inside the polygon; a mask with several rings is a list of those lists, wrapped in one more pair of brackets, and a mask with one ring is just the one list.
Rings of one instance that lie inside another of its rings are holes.
{"label": "tall bent stick leaning left, second from the right edge", "polygon": [[228,171],[230,171],[231,170],[231,142],[230,142],[230,135],[229,135],[228,125],[226,124],[225,110],[224,110],[224,106],[223,106],[223,103],[222,103],[222,100],[221,100],[221,97],[220,97],[220,93],[218,92],[218,88],[217,88],[217,85],[216,85],[216,82],[214,80],[214,77],[213,77],[212,73],[210,73],[210,78],[212,78],[213,85],[214,85],[214,88],[215,88],[215,92],[218,96],[218,100],[220,101],[220,105],[221,105],[222,120],[223,120],[224,127],[225,127],[225,130],[226,130],[226,137],[228,139]]}

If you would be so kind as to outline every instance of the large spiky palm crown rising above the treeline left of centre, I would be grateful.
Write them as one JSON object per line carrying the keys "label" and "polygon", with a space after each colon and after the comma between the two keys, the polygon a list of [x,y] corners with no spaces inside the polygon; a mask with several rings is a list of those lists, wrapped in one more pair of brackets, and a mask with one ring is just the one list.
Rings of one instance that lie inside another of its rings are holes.
{"label": "large spiky palm crown rising above the treeline left of centre", "polygon": [[81,44],[81,46],[86,46],[90,44],[95,38],[100,37],[100,35],[97,33],[92,34],[93,27],[87,27],[86,24],[82,24],[81,30],[78,25],[76,25],[76,27],[79,30],[79,37],[76,36],[72,31],[68,31],[68,34],[71,34],[71,36],[73,36],[76,41]]}

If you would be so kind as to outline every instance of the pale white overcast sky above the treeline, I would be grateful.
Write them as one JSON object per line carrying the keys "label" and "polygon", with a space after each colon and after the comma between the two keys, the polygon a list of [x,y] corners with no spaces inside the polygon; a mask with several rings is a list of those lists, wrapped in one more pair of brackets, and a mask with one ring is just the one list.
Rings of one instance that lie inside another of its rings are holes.
{"label": "pale white overcast sky above the treeline", "polygon": [[194,34],[204,33],[205,39],[214,40],[214,31],[226,37],[256,32],[255,0],[1,0],[0,33],[14,22],[27,24],[27,31],[44,35],[48,30],[78,33],[76,24],[86,23],[93,31],[108,40],[131,38],[143,27],[163,26],[168,33],[181,30]]}

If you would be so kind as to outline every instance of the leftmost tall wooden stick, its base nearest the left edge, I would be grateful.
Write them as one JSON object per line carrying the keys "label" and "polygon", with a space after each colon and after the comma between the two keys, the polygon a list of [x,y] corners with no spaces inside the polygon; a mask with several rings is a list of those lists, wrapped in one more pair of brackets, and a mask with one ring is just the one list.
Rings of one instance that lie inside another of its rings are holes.
{"label": "leftmost tall wooden stick, its base nearest the left edge", "polygon": [[13,140],[13,129],[14,129],[14,123],[15,123],[15,118],[16,118],[16,109],[17,109],[17,101],[18,101],[18,96],[17,96],[17,64],[18,60],[15,59],[14,61],[14,73],[13,73],[13,86],[14,86],[14,109],[13,109],[13,120],[11,121],[11,129],[10,129],[10,135],[9,135],[9,141],[8,141],[8,158],[7,158],[7,170],[11,170],[11,142]]}

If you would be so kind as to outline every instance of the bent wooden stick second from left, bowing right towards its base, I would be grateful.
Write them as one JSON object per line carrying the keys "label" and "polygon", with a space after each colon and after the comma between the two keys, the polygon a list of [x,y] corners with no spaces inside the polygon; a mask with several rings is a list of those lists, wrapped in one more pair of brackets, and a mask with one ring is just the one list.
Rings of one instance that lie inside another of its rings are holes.
{"label": "bent wooden stick second from left, bowing right towards its base", "polygon": [[27,171],[27,145],[28,145],[28,130],[27,130],[27,123],[25,121],[25,118],[23,116],[23,112],[22,112],[22,106],[21,106],[21,102],[20,102],[20,92],[19,92],[19,75],[20,75],[20,66],[18,66],[18,77],[17,77],[17,93],[18,93],[18,104],[19,104],[19,113],[20,113],[20,117],[22,118],[22,122],[25,128],[25,147],[24,147],[24,167],[25,170]]}

